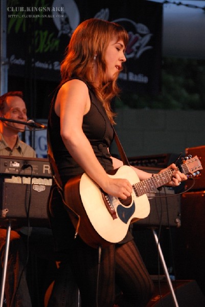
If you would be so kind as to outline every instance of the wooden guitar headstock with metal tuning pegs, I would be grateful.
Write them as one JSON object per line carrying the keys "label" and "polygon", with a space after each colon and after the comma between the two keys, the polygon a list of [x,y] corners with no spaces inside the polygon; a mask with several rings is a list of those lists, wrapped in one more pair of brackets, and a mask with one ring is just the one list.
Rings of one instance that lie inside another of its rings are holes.
{"label": "wooden guitar headstock with metal tuning pegs", "polygon": [[188,177],[200,176],[199,170],[203,169],[199,158],[197,156],[192,157],[191,155],[183,158],[183,164],[180,167],[182,169],[181,172],[185,173]]}

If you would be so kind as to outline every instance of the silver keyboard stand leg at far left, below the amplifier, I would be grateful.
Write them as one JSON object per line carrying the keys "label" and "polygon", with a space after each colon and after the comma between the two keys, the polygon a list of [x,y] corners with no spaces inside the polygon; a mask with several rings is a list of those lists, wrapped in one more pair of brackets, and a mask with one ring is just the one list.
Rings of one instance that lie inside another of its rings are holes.
{"label": "silver keyboard stand leg at far left, below the amplifier", "polygon": [[11,233],[11,221],[9,220],[8,225],[7,225],[7,235],[6,235],[6,243],[5,243],[5,251],[4,251],[4,265],[3,265],[3,270],[2,270],[0,307],[2,307],[4,303],[4,290],[5,290],[5,281],[6,281],[6,273],[7,273],[8,255],[9,255],[10,233]]}

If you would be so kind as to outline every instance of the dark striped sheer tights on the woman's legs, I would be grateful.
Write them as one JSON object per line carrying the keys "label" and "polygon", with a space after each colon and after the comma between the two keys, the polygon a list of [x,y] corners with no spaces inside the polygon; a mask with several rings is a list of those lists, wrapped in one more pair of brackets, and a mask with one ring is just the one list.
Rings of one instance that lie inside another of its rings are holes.
{"label": "dark striped sheer tights on the woman's legs", "polygon": [[98,250],[79,239],[73,251],[72,269],[80,289],[81,307],[112,307],[113,303],[120,307],[145,307],[148,303],[153,283],[133,240],[102,249],[98,305]]}

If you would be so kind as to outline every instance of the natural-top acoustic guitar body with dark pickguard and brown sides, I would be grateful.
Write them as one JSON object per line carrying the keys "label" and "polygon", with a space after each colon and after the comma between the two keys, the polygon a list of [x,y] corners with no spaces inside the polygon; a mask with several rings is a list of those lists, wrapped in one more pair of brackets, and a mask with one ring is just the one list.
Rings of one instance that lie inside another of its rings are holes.
{"label": "natural-top acoustic guitar body with dark pickguard and brown sides", "polygon": [[[140,181],[135,171],[126,165],[109,176],[127,179],[131,185]],[[70,212],[74,227],[77,227],[79,216],[78,234],[86,244],[94,248],[120,242],[126,236],[130,223],[145,218],[150,212],[147,195],[138,197],[132,190],[130,203],[126,205],[108,195],[111,212],[115,211],[115,214],[110,214],[102,193],[86,173],[68,181],[64,190],[66,204],[76,212],[76,215]]]}

